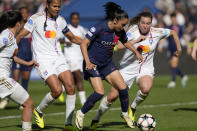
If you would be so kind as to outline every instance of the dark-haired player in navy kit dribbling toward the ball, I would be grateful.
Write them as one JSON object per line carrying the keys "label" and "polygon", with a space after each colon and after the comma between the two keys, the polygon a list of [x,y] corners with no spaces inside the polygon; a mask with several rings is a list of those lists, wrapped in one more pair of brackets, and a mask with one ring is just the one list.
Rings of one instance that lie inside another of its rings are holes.
{"label": "dark-haired player in navy kit dribbling toward the ball", "polygon": [[83,128],[85,113],[104,95],[102,79],[105,79],[117,89],[121,101],[121,116],[127,122],[127,125],[133,128],[132,120],[127,112],[129,105],[128,89],[112,61],[112,55],[114,46],[118,41],[121,41],[124,46],[134,51],[137,58],[142,61],[141,55],[133,48],[132,44],[143,40],[144,37],[139,37],[132,43],[128,42],[123,29],[128,23],[127,13],[113,2],[108,2],[104,7],[106,11],[106,21],[92,27],[80,45],[85,59],[83,63],[84,78],[90,81],[94,93],[88,97],[83,107],[76,113],[75,123],[78,129]]}

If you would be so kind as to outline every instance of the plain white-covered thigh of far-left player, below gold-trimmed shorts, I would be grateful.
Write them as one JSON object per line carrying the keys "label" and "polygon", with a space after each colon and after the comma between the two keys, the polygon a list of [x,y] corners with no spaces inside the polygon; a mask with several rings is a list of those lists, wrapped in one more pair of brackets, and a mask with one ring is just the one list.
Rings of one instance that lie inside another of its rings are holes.
{"label": "plain white-covered thigh of far-left player, below gold-trimmed shorts", "polygon": [[23,105],[29,98],[28,92],[18,83],[15,84],[15,91],[9,95],[9,98],[16,103]]}

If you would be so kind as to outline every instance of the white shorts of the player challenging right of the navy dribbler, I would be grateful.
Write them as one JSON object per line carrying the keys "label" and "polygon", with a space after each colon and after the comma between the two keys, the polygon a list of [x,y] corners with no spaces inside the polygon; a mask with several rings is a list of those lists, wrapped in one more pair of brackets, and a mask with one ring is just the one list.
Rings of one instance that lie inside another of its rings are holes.
{"label": "white shorts of the player challenging right of the navy dribbler", "polygon": [[122,68],[119,70],[119,72],[122,75],[124,82],[129,88],[131,88],[135,79],[136,79],[136,82],[138,83],[139,78],[146,76],[146,75],[154,78],[154,72],[148,68],[142,68],[140,72],[138,69],[135,69],[135,68],[133,69]]}

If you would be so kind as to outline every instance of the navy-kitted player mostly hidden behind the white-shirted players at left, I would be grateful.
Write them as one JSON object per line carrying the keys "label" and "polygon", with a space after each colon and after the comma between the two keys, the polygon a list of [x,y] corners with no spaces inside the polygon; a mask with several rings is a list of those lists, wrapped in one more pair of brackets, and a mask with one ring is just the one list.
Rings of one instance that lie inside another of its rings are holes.
{"label": "navy-kitted player mostly hidden behind the white-shirted players at left", "polygon": [[[19,9],[23,16],[23,23],[25,24],[28,19],[28,9],[26,7],[21,7]],[[25,61],[32,60],[32,52],[31,52],[31,35],[26,36],[25,38],[21,39],[18,43],[18,54],[17,56]],[[24,66],[21,64],[13,63],[12,70],[13,70],[13,79],[19,81],[21,76],[21,85],[22,87],[27,90],[28,82],[30,78],[30,72],[32,67]]]}

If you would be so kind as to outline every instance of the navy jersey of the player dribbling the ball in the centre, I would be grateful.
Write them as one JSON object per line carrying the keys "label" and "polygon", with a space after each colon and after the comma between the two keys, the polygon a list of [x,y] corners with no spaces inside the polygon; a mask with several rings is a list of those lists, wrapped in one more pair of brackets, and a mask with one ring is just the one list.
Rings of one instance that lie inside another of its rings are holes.
{"label": "navy jersey of the player dribbling the ball in the centre", "polygon": [[103,66],[112,61],[113,49],[118,40],[123,44],[127,42],[124,30],[115,32],[108,26],[108,21],[101,22],[92,27],[86,34],[90,40],[88,56],[90,61],[96,65]]}

